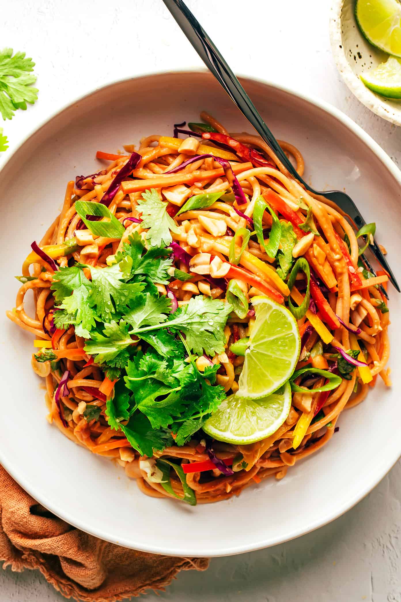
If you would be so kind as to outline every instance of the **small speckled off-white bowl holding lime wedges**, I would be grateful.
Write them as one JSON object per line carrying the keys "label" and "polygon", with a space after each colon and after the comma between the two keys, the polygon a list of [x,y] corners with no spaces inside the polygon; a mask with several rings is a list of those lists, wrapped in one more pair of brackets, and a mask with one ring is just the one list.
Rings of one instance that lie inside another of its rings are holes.
{"label": "small speckled off-white bowl holding lime wedges", "polygon": [[334,0],[330,14],[331,50],[338,71],[352,93],[373,113],[401,125],[401,104],[371,92],[359,75],[384,63],[388,54],[372,46],[355,19],[355,0]]}

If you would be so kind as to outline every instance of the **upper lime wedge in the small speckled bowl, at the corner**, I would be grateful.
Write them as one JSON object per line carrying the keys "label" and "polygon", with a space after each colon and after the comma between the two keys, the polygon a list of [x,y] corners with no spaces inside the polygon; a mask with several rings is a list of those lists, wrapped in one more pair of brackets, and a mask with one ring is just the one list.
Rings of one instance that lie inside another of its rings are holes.
{"label": "upper lime wedge in the small speckled bowl, at the corner", "polygon": [[357,0],[355,16],[373,46],[401,57],[401,5],[397,0]]}

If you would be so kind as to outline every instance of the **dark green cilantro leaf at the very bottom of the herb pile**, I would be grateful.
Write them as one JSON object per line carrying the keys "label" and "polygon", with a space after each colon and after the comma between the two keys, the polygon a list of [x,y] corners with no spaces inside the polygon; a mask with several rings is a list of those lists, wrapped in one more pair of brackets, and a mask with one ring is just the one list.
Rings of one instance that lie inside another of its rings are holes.
{"label": "dark green cilantro leaf at the very bottom of the herb pile", "polygon": [[164,450],[174,443],[174,439],[170,432],[164,429],[154,430],[144,414],[137,412],[130,419],[129,423],[124,426],[120,425],[124,435],[142,456],[153,456],[153,450]]}

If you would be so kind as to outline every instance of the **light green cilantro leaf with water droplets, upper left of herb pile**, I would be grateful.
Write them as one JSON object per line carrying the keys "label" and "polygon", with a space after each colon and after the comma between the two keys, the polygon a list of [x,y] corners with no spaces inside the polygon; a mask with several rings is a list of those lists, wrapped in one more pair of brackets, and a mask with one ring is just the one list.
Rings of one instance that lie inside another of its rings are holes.
{"label": "light green cilantro leaf with water droplets, upper left of herb pile", "polygon": [[[132,284],[121,282],[126,278],[124,261],[103,268],[93,267],[92,265],[88,267],[92,276],[89,303],[96,307],[97,314],[105,322],[111,321],[114,312],[123,314],[130,300],[141,293],[144,288],[144,284],[140,282],[133,282]],[[114,306],[112,302],[114,302]]]}

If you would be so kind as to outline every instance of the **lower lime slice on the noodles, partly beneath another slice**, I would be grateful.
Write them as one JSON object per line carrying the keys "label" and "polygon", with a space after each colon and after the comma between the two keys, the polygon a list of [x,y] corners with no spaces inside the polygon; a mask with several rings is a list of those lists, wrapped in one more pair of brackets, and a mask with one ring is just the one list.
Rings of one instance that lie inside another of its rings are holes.
{"label": "lower lime slice on the noodles, partly beneath another slice", "polygon": [[203,430],[218,441],[246,444],[269,437],[286,420],[291,407],[288,382],[262,399],[243,399],[230,395],[203,425]]}

